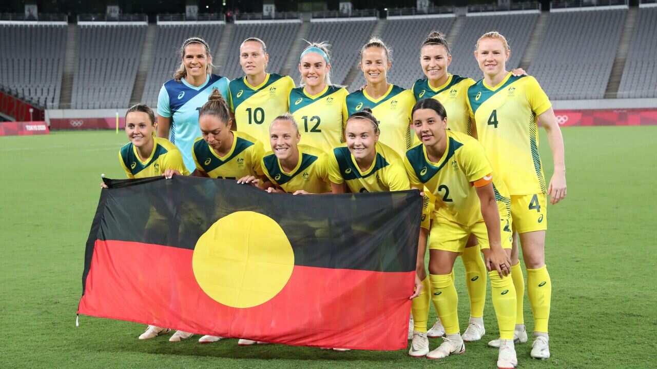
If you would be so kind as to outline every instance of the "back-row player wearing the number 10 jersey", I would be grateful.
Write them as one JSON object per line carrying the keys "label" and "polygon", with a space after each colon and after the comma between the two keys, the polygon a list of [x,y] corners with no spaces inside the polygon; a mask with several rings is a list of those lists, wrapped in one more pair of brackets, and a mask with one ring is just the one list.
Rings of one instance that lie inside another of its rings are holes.
{"label": "back-row player wearing the number 10 jersey", "polygon": [[[229,106],[235,114],[235,129],[267,144],[267,123],[288,111],[288,97],[294,88],[290,76],[266,72],[269,54],[265,42],[256,37],[240,45],[240,66],[245,76],[229,84]],[[267,122],[267,123],[265,123]]]}

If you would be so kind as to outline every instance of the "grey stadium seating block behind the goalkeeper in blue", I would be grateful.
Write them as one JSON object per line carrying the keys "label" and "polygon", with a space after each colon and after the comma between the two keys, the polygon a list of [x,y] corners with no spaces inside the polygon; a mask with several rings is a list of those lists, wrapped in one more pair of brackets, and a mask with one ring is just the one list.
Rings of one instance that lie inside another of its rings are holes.
{"label": "grey stadium seating block behind the goalkeeper in blue", "polygon": [[[173,72],[180,65],[180,47],[189,37],[201,37],[210,46],[210,52],[217,58],[219,40],[223,32],[223,25],[163,25],[158,26],[153,45],[153,61],[148,69],[148,77],[142,95],[142,102],[155,108],[162,83],[173,77]],[[214,64],[217,65],[216,59]],[[222,66],[212,72],[223,76]]]}

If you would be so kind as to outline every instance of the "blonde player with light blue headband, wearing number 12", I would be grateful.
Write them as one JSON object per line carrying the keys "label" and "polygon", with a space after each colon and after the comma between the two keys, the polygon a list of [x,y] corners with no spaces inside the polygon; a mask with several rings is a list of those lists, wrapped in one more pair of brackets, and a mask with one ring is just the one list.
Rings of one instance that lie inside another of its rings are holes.
{"label": "blonde player with light blue headband, wearing number 12", "polygon": [[330,83],[330,58],[326,43],[309,43],[302,51],[300,87],[290,91],[290,113],[301,125],[303,143],[324,152],[344,142],[344,99],[347,89]]}

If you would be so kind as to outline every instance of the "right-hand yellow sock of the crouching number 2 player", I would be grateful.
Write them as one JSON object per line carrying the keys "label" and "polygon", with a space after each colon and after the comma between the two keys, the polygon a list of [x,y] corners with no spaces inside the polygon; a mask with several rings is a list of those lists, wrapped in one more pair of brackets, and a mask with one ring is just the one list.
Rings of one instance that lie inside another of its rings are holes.
{"label": "right-hand yellow sock of the crouching number 2 player", "polygon": [[499,277],[497,271],[488,272],[491,280],[491,295],[493,307],[499,326],[501,339],[513,339],[513,330],[516,327],[516,292],[511,276]]}

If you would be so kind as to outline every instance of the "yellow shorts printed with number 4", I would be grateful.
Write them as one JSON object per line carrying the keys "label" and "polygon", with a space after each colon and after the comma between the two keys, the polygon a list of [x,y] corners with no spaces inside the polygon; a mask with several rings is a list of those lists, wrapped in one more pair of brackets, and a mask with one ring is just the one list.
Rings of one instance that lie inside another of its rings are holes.
{"label": "yellow shorts printed with number 4", "polygon": [[511,217],[518,233],[547,230],[547,195],[511,195]]}

